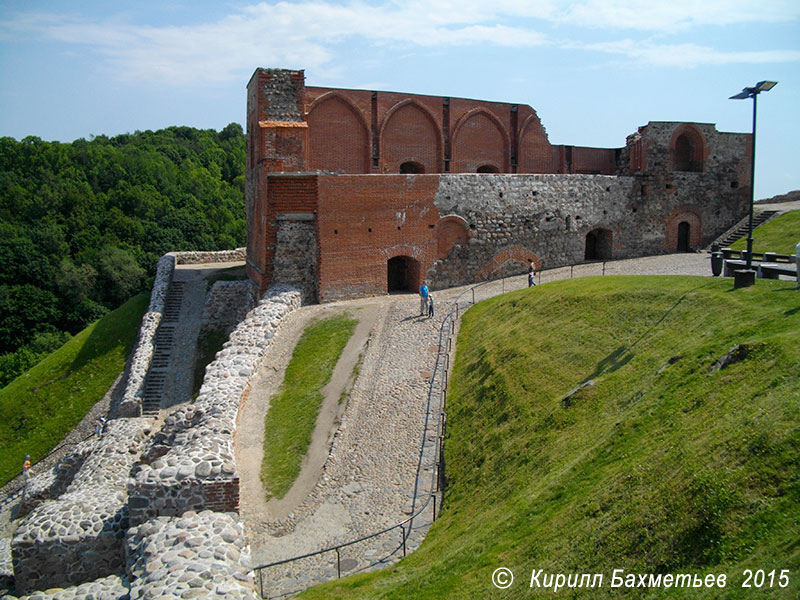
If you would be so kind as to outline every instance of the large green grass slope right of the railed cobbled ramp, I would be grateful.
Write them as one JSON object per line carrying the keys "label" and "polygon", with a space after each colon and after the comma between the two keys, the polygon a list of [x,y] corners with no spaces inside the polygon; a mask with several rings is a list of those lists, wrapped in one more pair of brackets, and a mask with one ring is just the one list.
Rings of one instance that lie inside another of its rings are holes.
{"label": "large green grass slope right of the railed cobbled ramp", "polygon": [[[552,595],[529,587],[533,569],[603,574],[601,588],[559,598],[799,597],[792,288],[603,277],[479,303],[463,317],[451,378],[440,519],[394,568],[303,597]],[[712,372],[739,344],[741,360]],[[515,574],[506,590],[491,583],[498,567]],[[614,569],[728,584],[614,589]],[[776,569],[773,587],[742,588],[745,569]]]}

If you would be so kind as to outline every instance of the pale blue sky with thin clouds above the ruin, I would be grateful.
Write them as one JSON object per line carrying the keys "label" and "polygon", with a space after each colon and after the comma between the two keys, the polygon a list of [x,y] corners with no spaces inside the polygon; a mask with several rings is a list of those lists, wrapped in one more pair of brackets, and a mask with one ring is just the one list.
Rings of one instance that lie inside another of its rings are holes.
{"label": "pale blue sky with thin clouds above the ruin", "polygon": [[306,85],[532,106],[550,142],[648,121],[750,132],[756,199],[800,189],[798,0],[3,0],[0,136],[244,125],[258,67]]}

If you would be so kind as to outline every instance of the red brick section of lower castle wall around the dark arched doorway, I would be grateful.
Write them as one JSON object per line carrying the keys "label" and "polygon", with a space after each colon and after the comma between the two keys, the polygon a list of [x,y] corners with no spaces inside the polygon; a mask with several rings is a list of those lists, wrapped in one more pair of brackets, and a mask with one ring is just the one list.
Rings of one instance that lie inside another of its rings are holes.
{"label": "red brick section of lower castle wall around the dark arched doorway", "polygon": [[423,277],[436,259],[438,185],[436,175],[321,177],[320,301],[385,293],[395,256],[418,261]]}

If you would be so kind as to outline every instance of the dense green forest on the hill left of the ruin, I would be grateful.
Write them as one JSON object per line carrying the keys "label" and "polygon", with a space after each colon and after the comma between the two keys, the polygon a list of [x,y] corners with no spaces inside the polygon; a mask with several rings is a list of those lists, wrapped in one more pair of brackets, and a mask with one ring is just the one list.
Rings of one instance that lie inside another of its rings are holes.
{"label": "dense green forest on the hill left of the ruin", "polygon": [[244,245],[245,136],[0,138],[0,386],[147,288],[172,250]]}

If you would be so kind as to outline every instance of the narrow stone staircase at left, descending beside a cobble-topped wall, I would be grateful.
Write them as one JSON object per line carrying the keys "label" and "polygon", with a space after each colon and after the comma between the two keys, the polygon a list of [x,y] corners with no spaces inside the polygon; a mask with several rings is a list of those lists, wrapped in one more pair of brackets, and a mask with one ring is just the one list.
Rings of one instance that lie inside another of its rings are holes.
{"label": "narrow stone staircase at left, descending beside a cobble-topped wall", "polygon": [[142,415],[156,416],[161,409],[170,357],[175,344],[175,329],[178,326],[178,320],[181,315],[184,285],[183,281],[173,281],[167,291],[161,324],[158,326],[153,340],[155,346],[153,358],[144,382]]}

